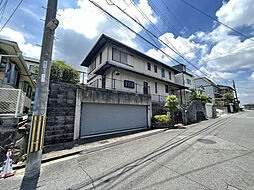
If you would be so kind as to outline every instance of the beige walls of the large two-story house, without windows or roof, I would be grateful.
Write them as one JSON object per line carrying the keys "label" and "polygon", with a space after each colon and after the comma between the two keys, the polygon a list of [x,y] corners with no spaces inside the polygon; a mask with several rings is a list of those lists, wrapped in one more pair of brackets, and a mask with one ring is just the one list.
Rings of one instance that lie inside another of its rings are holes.
{"label": "beige walls of the large two-story house, without windows or roof", "polygon": [[[128,70],[133,70],[139,73],[143,73],[145,75],[150,75],[153,77],[156,77],[158,79],[163,79],[168,82],[176,82],[175,81],[175,75],[174,72],[166,67],[165,69],[165,77],[161,76],[161,68],[162,66],[149,62],[151,64],[151,71],[147,68],[148,61],[144,60],[141,57],[135,56],[129,52],[127,52],[125,49],[121,49],[118,47],[114,47],[120,51],[127,53],[127,64],[119,63],[117,61],[112,60],[112,45],[106,45],[102,50],[102,64],[99,65],[99,54],[96,55],[96,69],[91,72],[91,67],[88,67],[88,80],[91,79],[94,75],[93,73],[101,68],[106,61],[109,61],[110,63],[114,64],[115,66],[120,66],[121,68],[126,68]],[[154,72],[154,65],[157,65],[157,73]],[[112,72],[114,71],[114,68],[108,69],[105,73],[106,75],[106,88],[111,89],[112,88]],[[163,82],[160,80],[156,80],[154,78],[151,78],[149,76],[142,76],[140,74],[131,72],[131,71],[125,71],[123,69],[117,69],[119,75],[116,75],[116,72],[114,72],[113,78],[116,79],[115,82],[115,89],[121,90],[121,91],[127,91],[127,92],[137,92],[137,93],[143,93],[143,85],[144,82],[148,83],[148,86],[150,87],[150,94],[156,94],[161,96],[168,96],[170,94],[171,89],[174,89],[173,87],[169,86],[169,92],[165,92],[165,85],[168,84],[167,82]],[[169,79],[169,72],[171,72],[171,80]],[[98,75],[94,77],[92,80],[88,82],[89,86],[93,87],[102,87],[102,76]],[[124,87],[124,80],[129,80],[135,82],[135,88],[126,88]],[[157,83],[157,93],[155,93],[155,82]],[[137,84],[137,88],[136,88]]]}

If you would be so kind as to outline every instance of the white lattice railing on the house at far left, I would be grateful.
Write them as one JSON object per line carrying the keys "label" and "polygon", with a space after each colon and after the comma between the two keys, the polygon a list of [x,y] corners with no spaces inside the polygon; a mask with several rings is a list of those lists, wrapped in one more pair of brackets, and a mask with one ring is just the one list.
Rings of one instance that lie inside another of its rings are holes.
{"label": "white lattice railing on the house at far left", "polygon": [[21,89],[0,88],[0,116],[22,114],[24,107],[30,108],[31,99]]}

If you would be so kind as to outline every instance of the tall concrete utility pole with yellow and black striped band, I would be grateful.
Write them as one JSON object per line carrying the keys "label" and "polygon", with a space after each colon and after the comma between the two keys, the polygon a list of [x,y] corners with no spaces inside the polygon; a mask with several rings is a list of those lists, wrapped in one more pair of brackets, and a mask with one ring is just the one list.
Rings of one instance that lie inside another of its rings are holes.
{"label": "tall concrete utility pole with yellow and black striped band", "polygon": [[59,24],[56,19],[56,11],[57,0],[48,0],[33,116],[30,125],[25,177],[34,177],[40,174],[54,33]]}

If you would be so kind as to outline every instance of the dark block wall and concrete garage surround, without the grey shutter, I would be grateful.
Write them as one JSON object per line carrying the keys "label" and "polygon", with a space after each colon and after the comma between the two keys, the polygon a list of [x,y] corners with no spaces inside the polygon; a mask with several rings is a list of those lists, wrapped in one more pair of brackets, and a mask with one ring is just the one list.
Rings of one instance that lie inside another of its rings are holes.
{"label": "dark block wall and concrete garage surround, without the grey shutter", "polygon": [[81,102],[148,106],[151,125],[151,96],[91,88],[66,83],[51,83],[46,119],[45,145],[79,138]]}

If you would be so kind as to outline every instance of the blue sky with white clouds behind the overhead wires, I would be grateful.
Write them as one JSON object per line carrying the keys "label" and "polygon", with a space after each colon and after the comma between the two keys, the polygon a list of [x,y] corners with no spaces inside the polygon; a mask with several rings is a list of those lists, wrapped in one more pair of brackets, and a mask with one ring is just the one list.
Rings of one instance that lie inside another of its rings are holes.
{"label": "blue sky with white clouds behind the overhead wires", "polygon": [[[195,76],[204,76],[205,73],[216,84],[230,86],[232,80],[235,80],[241,104],[254,103],[253,0],[185,0],[235,31],[201,14],[182,0],[93,1],[156,44],[158,49],[186,64],[188,72]],[[19,2],[20,0],[8,1],[0,22],[1,27]],[[138,19],[160,41],[151,39],[142,27],[115,5]],[[46,15],[43,7],[46,6],[46,0],[24,0],[0,32],[0,37],[16,41],[24,56],[39,58],[43,19]],[[60,24],[55,34],[53,59],[65,60],[78,70],[86,71],[80,64],[101,34],[115,38],[168,65],[177,64],[135,33],[107,17],[88,0],[58,1],[57,19]],[[188,62],[171,49],[179,52]]]}

